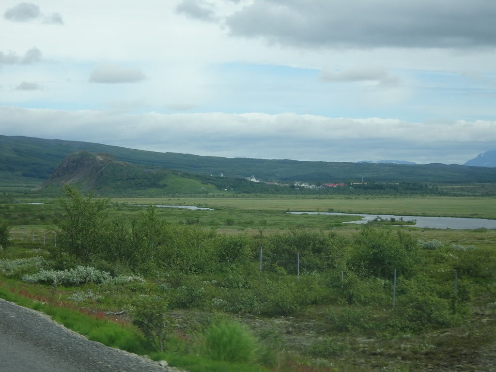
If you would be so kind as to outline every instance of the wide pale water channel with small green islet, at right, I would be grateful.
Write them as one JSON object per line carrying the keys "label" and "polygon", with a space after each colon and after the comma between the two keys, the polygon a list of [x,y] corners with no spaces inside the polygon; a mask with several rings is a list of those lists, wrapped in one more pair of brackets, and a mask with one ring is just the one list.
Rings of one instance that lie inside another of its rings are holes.
{"label": "wide pale water channel with small green islet, at right", "polygon": [[486,218],[462,218],[462,217],[425,217],[425,216],[394,216],[391,214],[361,214],[361,213],[337,213],[337,212],[288,212],[291,214],[327,214],[333,216],[360,216],[361,220],[350,221],[344,223],[364,224],[367,221],[375,219],[377,216],[390,220],[391,217],[398,221],[403,218],[403,221],[415,221],[412,227],[425,227],[431,229],[453,229],[453,230],[472,230],[479,228],[496,229],[496,220],[488,220]]}

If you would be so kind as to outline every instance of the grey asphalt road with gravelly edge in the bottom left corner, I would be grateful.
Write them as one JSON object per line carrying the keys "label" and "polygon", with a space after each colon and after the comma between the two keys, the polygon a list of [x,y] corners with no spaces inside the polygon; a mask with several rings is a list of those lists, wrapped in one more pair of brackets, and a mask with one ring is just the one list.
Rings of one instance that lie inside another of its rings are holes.
{"label": "grey asphalt road with gravelly edge in the bottom left corner", "polygon": [[171,372],[0,299],[0,372]]}

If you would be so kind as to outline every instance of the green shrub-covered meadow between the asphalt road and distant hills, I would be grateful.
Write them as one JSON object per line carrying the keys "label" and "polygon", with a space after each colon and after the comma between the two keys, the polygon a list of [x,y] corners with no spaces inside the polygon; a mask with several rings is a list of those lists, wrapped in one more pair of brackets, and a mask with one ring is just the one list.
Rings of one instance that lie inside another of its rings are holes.
{"label": "green shrub-covered meadow between the asphalt road and distant hills", "polygon": [[[59,199],[7,192],[0,200],[9,237],[17,232],[0,251],[0,296],[110,346],[192,372],[489,371],[494,361],[495,230],[347,225],[355,218],[286,212],[496,219],[495,198],[112,198],[89,255],[64,240]],[[43,245],[41,233],[55,231],[58,248],[48,235]],[[113,281],[51,279],[77,265]],[[157,307],[163,317],[146,318]],[[167,333],[147,337],[143,316]],[[230,344],[248,346],[223,357],[212,343],[233,334],[242,339]]]}

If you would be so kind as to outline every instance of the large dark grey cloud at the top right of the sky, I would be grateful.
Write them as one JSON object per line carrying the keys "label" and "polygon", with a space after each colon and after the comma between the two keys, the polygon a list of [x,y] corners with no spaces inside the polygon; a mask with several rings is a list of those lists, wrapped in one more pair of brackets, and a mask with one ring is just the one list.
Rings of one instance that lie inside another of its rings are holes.
{"label": "large dark grey cloud at the top right of the sky", "polygon": [[254,0],[226,24],[293,47],[494,48],[495,18],[487,0]]}

